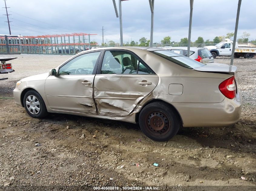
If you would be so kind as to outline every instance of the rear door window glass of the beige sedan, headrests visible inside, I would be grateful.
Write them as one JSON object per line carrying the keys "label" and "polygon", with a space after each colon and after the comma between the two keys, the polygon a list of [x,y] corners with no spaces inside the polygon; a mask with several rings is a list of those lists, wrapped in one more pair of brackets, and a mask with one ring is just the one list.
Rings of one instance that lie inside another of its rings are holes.
{"label": "rear door window glass of the beige sedan, headrests visible inside", "polygon": [[142,65],[139,59],[131,53],[118,50],[105,51],[101,74],[152,74],[150,72],[151,70]]}

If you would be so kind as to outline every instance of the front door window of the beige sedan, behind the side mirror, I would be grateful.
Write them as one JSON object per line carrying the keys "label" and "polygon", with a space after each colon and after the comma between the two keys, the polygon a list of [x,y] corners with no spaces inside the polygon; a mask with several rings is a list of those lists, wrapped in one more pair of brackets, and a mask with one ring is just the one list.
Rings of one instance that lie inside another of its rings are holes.
{"label": "front door window of the beige sedan, behind the side mirror", "polygon": [[63,65],[58,75],[90,75],[100,52],[82,54]]}

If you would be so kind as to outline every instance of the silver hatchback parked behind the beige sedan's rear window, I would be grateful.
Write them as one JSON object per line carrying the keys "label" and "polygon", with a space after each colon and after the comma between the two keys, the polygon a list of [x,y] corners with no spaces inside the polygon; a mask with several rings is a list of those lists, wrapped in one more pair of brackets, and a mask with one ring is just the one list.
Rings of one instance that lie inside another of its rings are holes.
{"label": "silver hatchback parked behind the beige sedan's rear window", "polygon": [[[188,47],[173,47],[165,49],[184,56],[187,56],[188,52]],[[211,55],[210,51],[206,48],[190,47],[189,58],[202,63],[213,63],[213,56]]]}

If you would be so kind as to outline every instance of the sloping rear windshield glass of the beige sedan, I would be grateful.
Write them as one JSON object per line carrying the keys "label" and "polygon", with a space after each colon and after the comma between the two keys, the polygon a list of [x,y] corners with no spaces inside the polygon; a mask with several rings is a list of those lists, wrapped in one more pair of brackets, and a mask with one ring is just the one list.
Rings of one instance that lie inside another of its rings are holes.
{"label": "sloping rear windshield glass of the beige sedan", "polygon": [[188,58],[187,56],[181,56],[180,54],[176,54],[168,50],[157,50],[153,51],[152,53],[155,53],[156,55],[161,56],[185,68],[194,69],[204,66],[204,64],[201,62],[195,61],[191,58]]}

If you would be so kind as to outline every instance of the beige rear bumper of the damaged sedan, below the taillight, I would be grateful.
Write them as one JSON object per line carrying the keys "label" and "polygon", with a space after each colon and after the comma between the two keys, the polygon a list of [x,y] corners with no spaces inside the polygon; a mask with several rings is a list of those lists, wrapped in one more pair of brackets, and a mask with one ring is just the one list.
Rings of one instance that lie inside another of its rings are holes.
{"label": "beige rear bumper of the damaged sedan, below the taillight", "polygon": [[181,115],[183,127],[229,126],[236,123],[242,110],[242,97],[220,103],[172,103]]}

